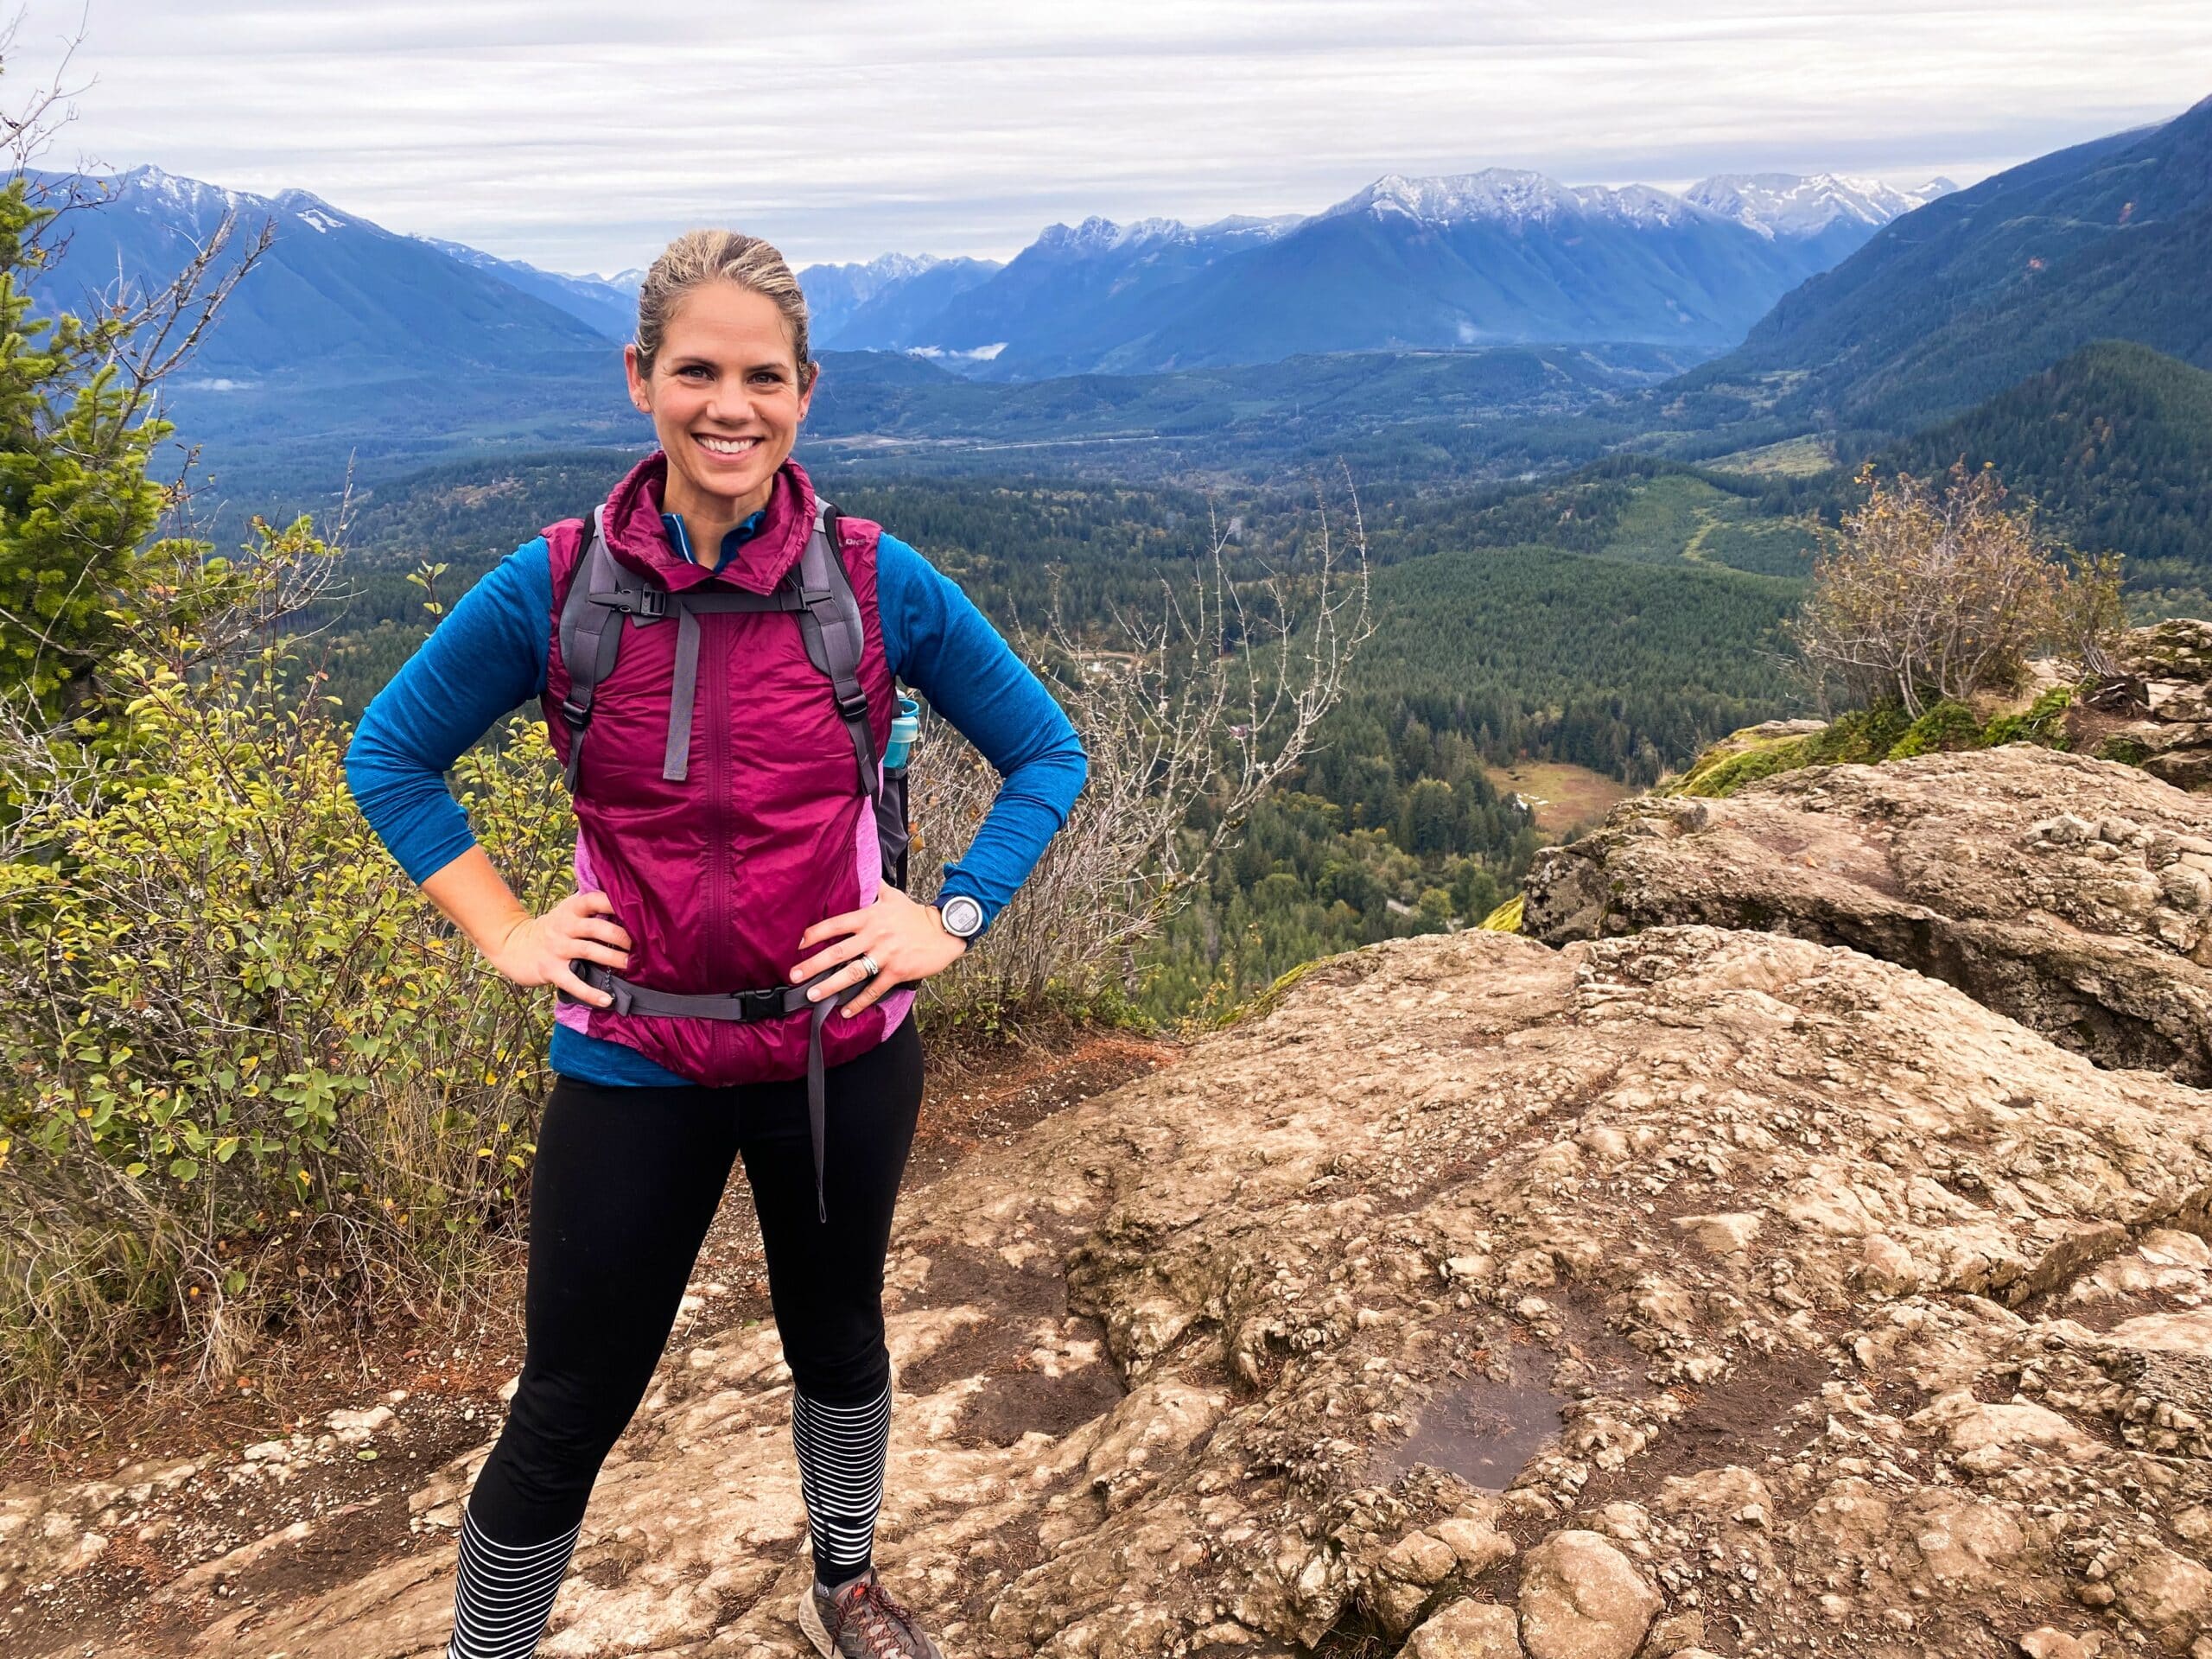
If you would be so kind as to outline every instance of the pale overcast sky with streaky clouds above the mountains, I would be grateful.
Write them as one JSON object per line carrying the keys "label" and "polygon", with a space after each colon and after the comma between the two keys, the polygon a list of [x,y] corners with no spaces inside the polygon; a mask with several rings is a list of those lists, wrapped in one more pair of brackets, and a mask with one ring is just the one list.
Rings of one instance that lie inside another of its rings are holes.
{"label": "pale overcast sky with streaky clouds above the mountains", "polygon": [[[29,0],[53,164],[299,186],[555,270],[1312,212],[1383,173],[1966,184],[2212,93],[2205,0]],[[13,104],[7,104],[13,108]]]}

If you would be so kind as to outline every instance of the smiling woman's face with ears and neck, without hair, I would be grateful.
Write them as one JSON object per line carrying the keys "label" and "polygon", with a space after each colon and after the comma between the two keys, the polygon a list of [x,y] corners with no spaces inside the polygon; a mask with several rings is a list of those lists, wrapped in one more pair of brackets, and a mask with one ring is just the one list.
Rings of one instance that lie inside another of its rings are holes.
{"label": "smiling woman's face with ears and neck, without hair", "polygon": [[661,504],[732,522],[768,507],[814,392],[799,383],[776,303],[730,281],[701,283],[677,301],[650,376],[639,374],[635,345],[622,356],[630,403],[653,416],[668,453]]}

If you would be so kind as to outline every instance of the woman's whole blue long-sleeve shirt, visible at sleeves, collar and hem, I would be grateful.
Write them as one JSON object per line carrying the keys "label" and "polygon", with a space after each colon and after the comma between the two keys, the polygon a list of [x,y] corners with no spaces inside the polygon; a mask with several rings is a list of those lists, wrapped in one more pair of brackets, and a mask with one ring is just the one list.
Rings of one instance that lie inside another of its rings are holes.
{"label": "woman's whole blue long-sleeve shirt, visible at sleeves, collar and hem", "polygon": [[[670,544],[695,557],[684,520],[661,522]],[[757,529],[759,513],[730,531],[717,568]],[[942,887],[947,898],[969,894],[989,925],[1068,821],[1086,776],[1082,741],[958,584],[889,533],[876,549],[876,611],[891,675],[1000,774],[991,812],[967,854],[945,867]],[[551,613],[551,549],[538,538],[469,588],[363,712],[345,781],[409,878],[420,883],[476,845],[445,774],[493,721],[544,695]],[[551,1060],[557,1073],[593,1084],[684,1082],[635,1048],[568,1026],[553,1029]]]}

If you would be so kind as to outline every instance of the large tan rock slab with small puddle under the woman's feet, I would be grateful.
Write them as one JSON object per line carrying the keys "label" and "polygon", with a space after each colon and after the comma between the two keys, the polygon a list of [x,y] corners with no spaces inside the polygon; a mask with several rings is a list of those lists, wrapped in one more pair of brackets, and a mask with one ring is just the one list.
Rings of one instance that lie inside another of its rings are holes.
{"label": "large tan rock slab with small puddle under the woman's feet", "polygon": [[[2208,1203],[2194,1088],[1858,951],[1383,945],[918,1197],[880,1555],[1000,1659],[2201,1659]],[[787,1407],[670,1356],[549,1655],[801,1652]],[[469,1469],[106,1650],[427,1659]]]}

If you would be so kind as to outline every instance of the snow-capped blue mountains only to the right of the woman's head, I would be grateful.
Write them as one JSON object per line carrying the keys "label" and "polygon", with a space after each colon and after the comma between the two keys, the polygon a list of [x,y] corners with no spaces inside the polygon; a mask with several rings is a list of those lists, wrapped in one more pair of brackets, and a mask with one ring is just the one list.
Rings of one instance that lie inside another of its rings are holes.
{"label": "snow-capped blue mountains only to the right of the woman's head", "polygon": [[[1951,190],[1725,175],[1670,195],[1542,173],[1387,175],[1312,217],[1051,226],[1000,270],[889,268],[821,341],[980,378],[1272,363],[1298,352],[1635,341],[1721,352],[1787,290]],[[885,261],[878,261],[883,265]],[[801,274],[810,296],[845,272]],[[936,310],[909,283],[958,281]]]}

